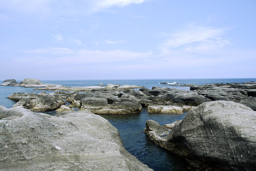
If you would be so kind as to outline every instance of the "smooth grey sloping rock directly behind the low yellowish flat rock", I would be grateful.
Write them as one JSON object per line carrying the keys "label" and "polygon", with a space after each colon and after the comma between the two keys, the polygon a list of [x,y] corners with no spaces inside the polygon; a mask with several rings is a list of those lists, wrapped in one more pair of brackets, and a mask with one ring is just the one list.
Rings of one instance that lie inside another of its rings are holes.
{"label": "smooth grey sloping rock directly behind the low yellowish flat rock", "polygon": [[199,95],[196,92],[180,90],[180,89],[168,89],[161,99],[172,100],[176,103],[182,103],[190,106],[197,106],[204,102],[210,102],[211,100]]}

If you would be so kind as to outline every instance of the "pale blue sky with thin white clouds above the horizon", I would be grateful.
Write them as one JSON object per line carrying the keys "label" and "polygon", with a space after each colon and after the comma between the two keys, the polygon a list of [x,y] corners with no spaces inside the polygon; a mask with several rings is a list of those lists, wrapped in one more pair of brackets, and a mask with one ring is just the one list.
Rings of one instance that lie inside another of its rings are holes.
{"label": "pale blue sky with thin white clouds above the horizon", "polygon": [[1,0],[0,80],[256,77],[255,0]]}

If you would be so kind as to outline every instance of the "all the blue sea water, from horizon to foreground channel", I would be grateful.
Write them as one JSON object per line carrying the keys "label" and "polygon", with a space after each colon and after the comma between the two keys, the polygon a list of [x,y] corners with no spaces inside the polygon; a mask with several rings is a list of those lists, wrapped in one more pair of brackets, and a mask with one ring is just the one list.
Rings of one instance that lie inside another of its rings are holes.
{"label": "all the blue sea water, from horizon to foreground channel", "polygon": [[[20,82],[22,80],[17,80]],[[213,83],[242,83],[242,82],[256,82],[256,78],[237,78],[237,79],[135,79],[135,80],[41,80],[43,83],[60,84],[67,87],[73,86],[96,86],[100,83],[119,84],[119,85],[141,85],[148,89],[153,86],[169,87],[189,90],[185,86],[170,86],[159,84],[159,82],[179,82],[182,84],[213,84]],[[2,83],[3,81],[0,81]],[[178,85],[182,85],[178,84]],[[39,93],[41,90],[33,90],[33,88],[25,88],[20,86],[0,86],[0,105],[11,108],[16,102],[7,97],[14,92],[34,92]],[[50,93],[52,91],[46,91]],[[49,115],[55,115],[55,112],[46,112]],[[139,114],[131,115],[101,115],[114,125],[123,140],[124,147],[131,154],[136,156],[142,163],[147,164],[155,171],[165,170],[188,170],[186,160],[177,157],[175,154],[158,147],[155,143],[148,139],[143,132],[145,128],[145,121],[152,119],[159,124],[170,124],[176,120],[181,120],[186,116],[183,114],[148,114],[146,109]]]}

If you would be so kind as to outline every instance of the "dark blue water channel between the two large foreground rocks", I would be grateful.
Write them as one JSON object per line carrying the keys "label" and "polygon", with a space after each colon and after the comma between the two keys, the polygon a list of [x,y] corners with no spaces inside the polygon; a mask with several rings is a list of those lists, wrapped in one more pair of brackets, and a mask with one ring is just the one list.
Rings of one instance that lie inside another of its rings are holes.
{"label": "dark blue water channel between the two large foreground rocks", "polygon": [[170,124],[176,120],[183,119],[184,114],[148,114],[146,109],[140,114],[130,115],[101,115],[114,125],[123,140],[124,147],[142,163],[148,165],[155,171],[165,170],[188,170],[187,163],[175,154],[158,147],[148,139],[143,132],[145,121],[152,119],[159,124]]}

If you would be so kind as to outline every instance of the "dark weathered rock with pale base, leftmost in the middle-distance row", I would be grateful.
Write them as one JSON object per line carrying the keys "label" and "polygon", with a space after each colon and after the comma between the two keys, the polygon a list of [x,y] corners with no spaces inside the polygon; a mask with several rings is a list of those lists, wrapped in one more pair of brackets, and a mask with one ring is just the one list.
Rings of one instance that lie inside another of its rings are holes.
{"label": "dark weathered rock with pale base, leftmost in the middle-distance row", "polygon": [[55,111],[64,105],[65,102],[61,96],[49,93],[46,95],[29,94],[21,98],[13,107],[23,106],[31,111]]}

